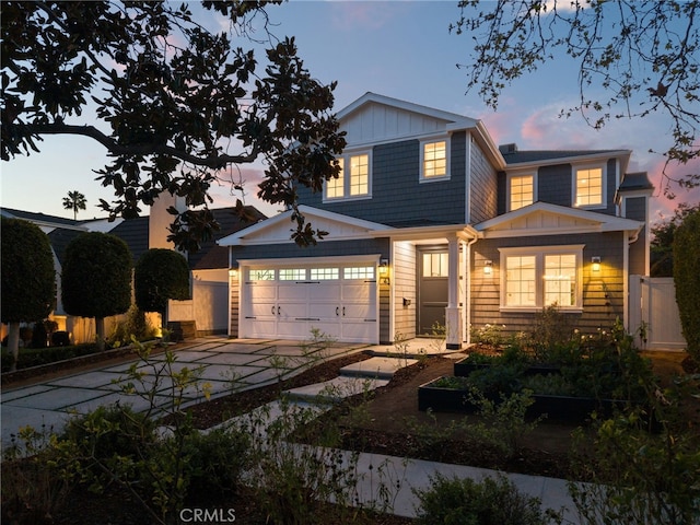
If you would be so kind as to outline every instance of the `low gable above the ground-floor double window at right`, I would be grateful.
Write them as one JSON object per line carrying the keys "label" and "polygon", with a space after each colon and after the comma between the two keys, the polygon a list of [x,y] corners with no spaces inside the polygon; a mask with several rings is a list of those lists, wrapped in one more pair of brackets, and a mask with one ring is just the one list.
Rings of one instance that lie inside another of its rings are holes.
{"label": "low gable above the ground-floor double window at right", "polygon": [[631,219],[538,201],[476,224],[475,229],[480,237],[492,238],[620,231],[635,235],[643,225]]}

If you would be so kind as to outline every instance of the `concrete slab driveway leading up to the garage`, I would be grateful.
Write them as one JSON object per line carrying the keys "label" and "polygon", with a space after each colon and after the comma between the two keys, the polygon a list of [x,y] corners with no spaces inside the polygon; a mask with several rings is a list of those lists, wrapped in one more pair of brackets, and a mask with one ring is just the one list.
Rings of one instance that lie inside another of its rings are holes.
{"label": "concrete slab driveway leading up to the garage", "polygon": [[[234,389],[248,389],[275,383],[299,374],[308,366],[340,355],[358,352],[368,345],[334,343],[329,348],[315,349],[302,341],[236,339],[205,337],[180,345],[175,351],[174,370],[187,366],[198,371],[199,385],[207,383],[211,397],[230,394]],[[156,371],[164,364],[164,354],[154,355],[150,364],[139,364],[144,382],[152,384]],[[12,435],[24,425],[36,430],[60,431],[73,413],[86,413],[101,405],[119,401],[135,410],[148,408],[148,402],[137,395],[127,395],[122,385],[128,370],[139,360],[109,365],[90,372],[65,375],[2,393],[1,424],[2,446],[11,443]],[[156,402],[167,402],[164,392],[167,381],[159,384],[163,390]],[[187,402],[203,398],[201,388],[185,393]]]}

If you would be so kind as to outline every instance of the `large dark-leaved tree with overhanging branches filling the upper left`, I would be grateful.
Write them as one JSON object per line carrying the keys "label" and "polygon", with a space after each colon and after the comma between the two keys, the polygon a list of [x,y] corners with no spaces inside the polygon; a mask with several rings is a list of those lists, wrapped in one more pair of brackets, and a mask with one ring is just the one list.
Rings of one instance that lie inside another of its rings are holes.
{"label": "large dark-leaved tree with overhanging branches filling the upper left", "polygon": [[[183,196],[199,208],[171,210],[170,238],[188,250],[218,226],[210,186],[260,161],[258,196],[295,210],[292,237],[314,244],[323,232],[305,223],[296,190],[320,190],[340,171],[336,83],[311,77],[293,38],[267,32],[265,9],[275,3],[203,1],[230,22],[214,33],[179,2],[3,2],[2,159],[38,152],[47,135],[96,140],[112,159],[97,179],[116,197],[101,208],[128,219],[164,190]],[[259,24],[264,61],[233,45],[253,44]],[[234,187],[243,191],[243,182]],[[244,214],[241,200],[237,209]]]}

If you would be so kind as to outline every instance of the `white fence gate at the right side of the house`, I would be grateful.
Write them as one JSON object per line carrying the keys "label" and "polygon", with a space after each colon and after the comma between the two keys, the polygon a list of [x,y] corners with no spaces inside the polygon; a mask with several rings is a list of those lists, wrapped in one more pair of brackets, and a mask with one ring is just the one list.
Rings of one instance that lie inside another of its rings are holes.
{"label": "white fence gate at the right side of the house", "polygon": [[[646,350],[685,350],[673,277],[630,276],[630,331],[646,327]],[[639,342],[639,339],[638,339]]]}

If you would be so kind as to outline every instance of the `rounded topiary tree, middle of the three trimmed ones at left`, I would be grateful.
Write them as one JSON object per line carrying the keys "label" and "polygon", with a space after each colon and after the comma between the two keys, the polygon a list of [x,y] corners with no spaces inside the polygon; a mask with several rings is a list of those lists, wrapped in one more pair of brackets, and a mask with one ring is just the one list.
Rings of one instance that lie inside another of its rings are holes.
{"label": "rounded topiary tree, middle of the three trimmed ones at left", "polygon": [[105,348],[105,317],[131,305],[131,253],[115,235],[81,233],[66,246],[61,273],[63,308],[94,317],[97,348]]}

